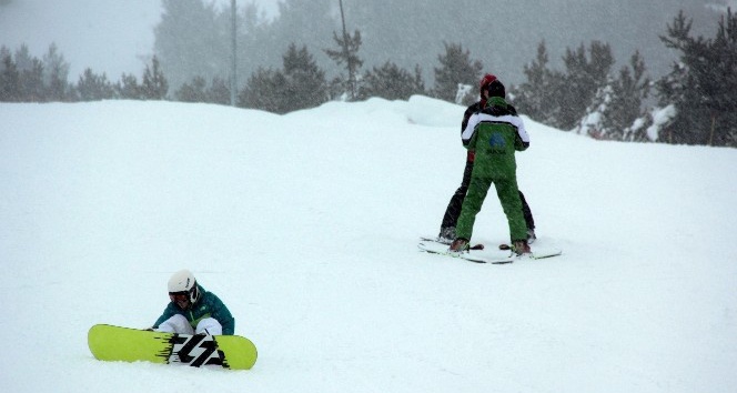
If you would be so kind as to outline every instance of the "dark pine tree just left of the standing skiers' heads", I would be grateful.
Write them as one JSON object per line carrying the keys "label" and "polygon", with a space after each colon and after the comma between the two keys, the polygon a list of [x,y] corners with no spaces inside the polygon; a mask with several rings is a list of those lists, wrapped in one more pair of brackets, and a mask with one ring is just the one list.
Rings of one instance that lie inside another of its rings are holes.
{"label": "dark pine tree just left of the standing skiers' heads", "polygon": [[478,60],[471,60],[471,53],[461,43],[443,44],[445,53],[437,57],[441,67],[434,68],[435,87],[432,93],[441,100],[454,102],[461,85],[474,87],[478,83],[483,66]]}

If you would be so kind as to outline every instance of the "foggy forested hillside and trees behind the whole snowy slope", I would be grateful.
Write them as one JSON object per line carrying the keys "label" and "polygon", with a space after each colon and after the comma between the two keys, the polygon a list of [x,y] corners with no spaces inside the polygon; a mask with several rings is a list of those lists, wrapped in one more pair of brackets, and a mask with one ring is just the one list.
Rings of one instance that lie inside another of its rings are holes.
{"label": "foggy forested hillside and trees behind the whole snowy slope", "polygon": [[[3,44],[0,99],[229,104],[228,3],[163,0],[140,81],[133,73],[113,81],[89,68],[70,81],[55,44],[40,59],[27,46]],[[12,4],[3,0],[0,12]],[[335,0],[285,0],[267,17],[256,3],[240,2],[235,104],[286,113],[330,100],[412,94],[468,103],[479,77],[493,72],[521,112],[556,128],[598,139],[735,147],[737,33],[729,4],[344,0],[341,12]]]}

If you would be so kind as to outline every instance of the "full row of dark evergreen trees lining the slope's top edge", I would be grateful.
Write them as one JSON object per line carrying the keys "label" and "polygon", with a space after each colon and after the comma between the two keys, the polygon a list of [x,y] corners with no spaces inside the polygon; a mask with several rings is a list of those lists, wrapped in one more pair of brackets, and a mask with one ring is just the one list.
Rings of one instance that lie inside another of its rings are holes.
{"label": "full row of dark evergreen trees lining the slope's top edge", "polygon": [[[173,21],[170,21],[173,23]],[[713,38],[693,37],[682,11],[662,42],[679,52],[665,77],[652,81],[640,53],[614,71],[609,44],[592,41],[566,49],[564,70],[552,69],[545,41],[524,66],[526,80],[511,85],[508,99],[532,119],[597,139],[737,147],[737,17],[728,10]],[[460,104],[477,99],[483,63],[462,43],[444,43],[426,88],[418,64],[407,70],[387,60],[361,71],[361,32],[333,32],[324,52],[345,72],[329,80],[306,46],[291,43],[281,68],[260,67],[238,91],[238,105],[286,113],[330,100],[381,97],[406,100],[424,94]],[[69,64],[55,46],[42,59],[26,46],[12,53],[0,48],[0,101],[90,101],[102,99],[175,100],[230,103],[225,75],[193,77],[173,92],[154,56],[139,82],[123,74],[117,82],[87,69],[75,84],[67,81]],[[353,69],[347,67],[351,64]]]}

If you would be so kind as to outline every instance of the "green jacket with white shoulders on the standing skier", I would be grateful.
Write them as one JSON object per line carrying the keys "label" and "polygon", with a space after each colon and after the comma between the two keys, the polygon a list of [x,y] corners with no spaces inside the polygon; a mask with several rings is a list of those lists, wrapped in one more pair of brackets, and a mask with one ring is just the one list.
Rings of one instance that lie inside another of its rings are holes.
{"label": "green jacket with white shoulders on the standing skier", "polygon": [[519,117],[503,98],[492,97],[474,113],[461,135],[463,145],[476,151],[473,174],[492,179],[515,177],[515,151],[529,147],[529,135]]}

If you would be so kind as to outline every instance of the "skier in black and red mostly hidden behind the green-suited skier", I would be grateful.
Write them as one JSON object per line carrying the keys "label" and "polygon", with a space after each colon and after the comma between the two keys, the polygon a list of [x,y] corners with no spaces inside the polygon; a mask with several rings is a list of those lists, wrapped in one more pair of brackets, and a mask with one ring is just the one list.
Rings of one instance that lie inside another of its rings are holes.
{"label": "skier in black and red mostly hidden behind the green-suited skier", "polygon": [[[463,113],[463,121],[461,122],[461,132],[465,130],[466,124],[468,124],[468,119],[472,114],[481,112],[486,108],[486,101],[488,100],[488,84],[496,80],[496,75],[487,73],[478,82],[479,85],[479,95],[481,100],[471,104],[466,111]],[[517,111],[514,107],[507,104],[509,112],[517,114]],[[458,223],[458,215],[461,214],[461,206],[463,205],[463,200],[466,198],[466,192],[468,191],[468,183],[471,182],[471,172],[474,169],[474,150],[468,150],[466,154],[466,167],[463,170],[463,180],[461,181],[461,187],[455,190],[453,196],[451,196],[451,202],[445,209],[445,214],[443,214],[443,221],[441,223],[441,232],[437,235],[437,241],[445,244],[451,244],[455,240],[455,226]],[[535,220],[533,219],[533,212],[525,200],[525,195],[519,191],[519,200],[522,201],[522,214],[525,218],[525,224],[527,226],[527,242],[532,244],[535,236]]]}

